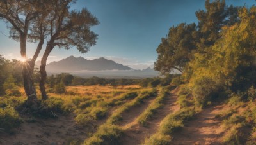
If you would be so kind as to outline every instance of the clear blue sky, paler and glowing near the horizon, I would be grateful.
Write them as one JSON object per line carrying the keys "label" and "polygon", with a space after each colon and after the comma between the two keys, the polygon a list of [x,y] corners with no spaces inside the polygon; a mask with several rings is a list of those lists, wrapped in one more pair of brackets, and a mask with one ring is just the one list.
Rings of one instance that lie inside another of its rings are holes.
{"label": "clear blue sky, paler and glowing near the horizon", "polygon": [[[97,44],[85,54],[76,48],[60,50],[56,47],[48,62],[74,55],[86,59],[106,57],[136,69],[152,66],[157,59],[156,48],[168,29],[182,22],[197,23],[195,11],[204,10],[204,3],[204,0],[78,0],[72,9],[85,7],[100,22],[92,28],[99,34]],[[226,3],[252,6],[255,0],[226,0]],[[0,54],[8,59],[19,59],[19,43],[5,36],[8,29],[3,21],[0,31]],[[32,57],[36,44],[28,43],[27,48],[28,57]]]}

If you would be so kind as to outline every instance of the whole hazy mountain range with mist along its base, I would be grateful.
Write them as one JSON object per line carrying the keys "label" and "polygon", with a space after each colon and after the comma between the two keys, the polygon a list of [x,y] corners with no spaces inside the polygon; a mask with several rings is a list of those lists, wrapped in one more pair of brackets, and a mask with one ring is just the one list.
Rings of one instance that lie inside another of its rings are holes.
{"label": "whole hazy mountain range with mist along its base", "polygon": [[[35,67],[39,68],[39,66],[40,61],[37,61]],[[83,78],[90,78],[92,76],[102,78],[152,78],[159,76],[159,72],[154,71],[150,67],[143,70],[132,69],[104,57],[87,60],[83,57],[70,56],[47,64],[46,71],[48,75],[69,73]]]}

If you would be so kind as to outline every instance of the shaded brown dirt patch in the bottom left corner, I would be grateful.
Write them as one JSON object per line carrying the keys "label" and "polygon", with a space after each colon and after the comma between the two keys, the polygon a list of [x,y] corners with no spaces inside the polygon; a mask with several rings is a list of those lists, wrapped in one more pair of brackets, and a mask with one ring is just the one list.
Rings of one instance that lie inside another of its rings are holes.
{"label": "shaded brown dirt patch in the bottom left corner", "polygon": [[35,123],[24,121],[15,134],[0,134],[0,144],[67,144],[72,139],[84,141],[86,132],[88,130],[76,127],[72,115],[40,119]]}

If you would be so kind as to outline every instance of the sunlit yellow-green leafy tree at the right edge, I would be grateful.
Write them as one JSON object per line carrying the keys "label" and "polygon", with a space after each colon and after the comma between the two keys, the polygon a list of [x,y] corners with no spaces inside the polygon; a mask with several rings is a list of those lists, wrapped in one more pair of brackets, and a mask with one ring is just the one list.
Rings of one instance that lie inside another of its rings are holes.
{"label": "sunlit yellow-green leafy tree at the right edge", "polygon": [[189,62],[188,88],[196,102],[207,104],[220,92],[244,92],[256,84],[256,7],[239,10],[239,22],[221,29],[220,38],[207,48],[207,53],[195,53]]}

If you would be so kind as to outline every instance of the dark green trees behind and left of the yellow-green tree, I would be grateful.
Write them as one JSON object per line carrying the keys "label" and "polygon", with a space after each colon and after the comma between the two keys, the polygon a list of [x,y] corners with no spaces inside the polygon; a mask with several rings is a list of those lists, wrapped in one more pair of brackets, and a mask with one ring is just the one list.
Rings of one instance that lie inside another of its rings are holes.
{"label": "dark green trees behind and left of the yellow-green tree", "polygon": [[191,71],[187,64],[197,52],[207,53],[208,48],[221,37],[223,26],[239,22],[238,7],[226,6],[225,1],[205,1],[205,9],[196,11],[198,25],[179,24],[169,29],[168,36],[162,38],[157,47],[157,61],[154,69],[168,74],[177,69],[181,73]]}

